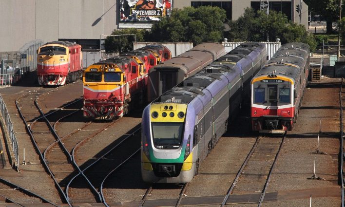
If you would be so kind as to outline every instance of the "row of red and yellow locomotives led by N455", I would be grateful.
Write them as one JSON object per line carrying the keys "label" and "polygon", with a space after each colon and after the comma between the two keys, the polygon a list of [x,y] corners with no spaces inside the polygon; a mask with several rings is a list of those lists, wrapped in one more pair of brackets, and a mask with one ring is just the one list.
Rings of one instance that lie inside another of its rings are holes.
{"label": "row of red and yellow locomotives led by N455", "polygon": [[130,102],[146,99],[147,74],[171,58],[163,45],[148,45],[90,65],[83,72],[84,117],[114,119],[128,113]]}

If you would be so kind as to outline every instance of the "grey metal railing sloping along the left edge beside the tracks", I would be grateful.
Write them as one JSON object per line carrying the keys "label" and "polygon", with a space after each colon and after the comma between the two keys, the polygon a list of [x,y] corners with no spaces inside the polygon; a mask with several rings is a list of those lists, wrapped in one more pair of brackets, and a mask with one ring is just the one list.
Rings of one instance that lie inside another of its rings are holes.
{"label": "grey metal railing sloping along the left edge beside the tracks", "polygon": [[2,96],[0,95],[0,108],[1,108],[1,115],[5,120],[5,124],[7,127],[7,132],[9,134],[9,138],[11,141],[11,147],[12,147],[12,151],[14,153],[15,159],[16,161],[14,162],[14,168],[19,170],[19,152],[18,152],[18,142],[17,142],[17,138],[16,138],[16,134],[13,130],[13,124],[11,122],[11,118],[10,115],[8,114],[7,108],[6,108],[6,104],[3,101]]}

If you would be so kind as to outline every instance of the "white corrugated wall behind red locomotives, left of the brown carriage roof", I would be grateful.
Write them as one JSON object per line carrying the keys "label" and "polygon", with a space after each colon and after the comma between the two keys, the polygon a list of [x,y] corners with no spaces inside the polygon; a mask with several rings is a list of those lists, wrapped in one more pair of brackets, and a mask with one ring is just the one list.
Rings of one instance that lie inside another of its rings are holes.
{"label": "white corrugated wall behind red locomotives, left of the brown carriage roof", "polygon": [[193,48],[192,42],[134,42],[134,50],[149,44],[161,44],[166,46],[172,52],[172,57],[178,56]]}

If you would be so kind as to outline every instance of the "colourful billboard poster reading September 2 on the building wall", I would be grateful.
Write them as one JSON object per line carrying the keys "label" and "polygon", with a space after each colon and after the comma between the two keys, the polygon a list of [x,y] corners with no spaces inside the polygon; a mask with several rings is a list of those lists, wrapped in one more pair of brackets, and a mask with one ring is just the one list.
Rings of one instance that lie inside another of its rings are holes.
{"label": "colourful billboard poster reading September 2 on the building wall", "polygon": [[120,0],[120,22],[159,21],[171,15],[172,0]]}

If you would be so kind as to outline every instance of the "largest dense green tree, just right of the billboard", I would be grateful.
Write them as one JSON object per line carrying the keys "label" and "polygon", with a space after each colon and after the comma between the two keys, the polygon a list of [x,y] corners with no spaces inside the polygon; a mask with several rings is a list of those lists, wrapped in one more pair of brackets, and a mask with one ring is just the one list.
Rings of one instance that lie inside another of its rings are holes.
{"label": "largest dense green tree, just right of the billboard", "polygon": [[219,7],[201,6],[174,9],[171,17],[153,22],[146,40],[192,41],[194,45],[204,41],[221,41],[225,10]]}

